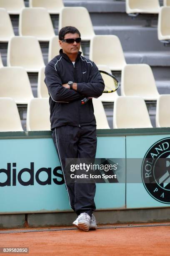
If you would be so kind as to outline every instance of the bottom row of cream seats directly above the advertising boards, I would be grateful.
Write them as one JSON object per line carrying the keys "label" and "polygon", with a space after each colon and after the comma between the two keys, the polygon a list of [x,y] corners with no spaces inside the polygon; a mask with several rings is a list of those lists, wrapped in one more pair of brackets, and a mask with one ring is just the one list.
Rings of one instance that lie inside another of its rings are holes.
{"label": "bottom row of cream seats directly above the advertising boards", "polygon": [[[92,99],[97,129],[109,129],[105,110],[99,99]],[[170,95],[160,95],[157,101],[156,126],[170,127]],[[23,131],[18,108],[12,98],[0,98],[0,132]],[[143,98],[120,96],[113,109],[113,128],[152,128],[148,110]],[[50,130],[50,109],[48,98],[34,98],[28,103],[27,131]]]}

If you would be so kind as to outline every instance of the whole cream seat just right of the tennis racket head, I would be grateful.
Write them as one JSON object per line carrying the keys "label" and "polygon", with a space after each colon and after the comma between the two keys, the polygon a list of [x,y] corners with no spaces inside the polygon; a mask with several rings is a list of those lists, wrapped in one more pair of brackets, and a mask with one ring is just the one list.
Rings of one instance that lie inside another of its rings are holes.
{"label": "whole cream seat just right of the tennis racket head", "polygon": [[148,64],[128,64],[122,69],[122,96],[140,96],[144,100],[157,100],[159,93],[152,69]]}

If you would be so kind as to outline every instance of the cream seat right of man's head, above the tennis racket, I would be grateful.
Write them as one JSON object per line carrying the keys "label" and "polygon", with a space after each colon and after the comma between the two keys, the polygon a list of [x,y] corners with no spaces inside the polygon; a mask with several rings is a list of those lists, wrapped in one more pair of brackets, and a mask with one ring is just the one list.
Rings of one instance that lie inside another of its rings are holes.
{"label": "cream seat right of man's head, above the tennis racket", "polygon": [[122,70],[126,64],[120,40],[114,35],[94,36],[90,41],[89,59],[115,71]]}

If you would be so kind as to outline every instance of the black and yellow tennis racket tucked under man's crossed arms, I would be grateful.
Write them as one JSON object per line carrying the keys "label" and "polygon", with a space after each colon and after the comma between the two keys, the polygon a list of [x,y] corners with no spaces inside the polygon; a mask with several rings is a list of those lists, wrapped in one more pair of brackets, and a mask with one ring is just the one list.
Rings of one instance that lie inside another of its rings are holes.
{"label": "black and yellow tennis racket tucked under man's crossed arms", "polygon": [[[119,81],[116,79],[115,76],[113,76],[110,73],[107,73],[103,70],[99,70],[100,73],[106,74],[107,76],[112,77],[113,82],[109,83],[109,85],[105,85],[105,89],[103,91],[103,93],[110,93],[110,92],[115,92],[118,88],[119,88]],[[81,104],[84,105],[88,100],[92,99],[92,97],[85,97],[83,100],[81,100]]]}

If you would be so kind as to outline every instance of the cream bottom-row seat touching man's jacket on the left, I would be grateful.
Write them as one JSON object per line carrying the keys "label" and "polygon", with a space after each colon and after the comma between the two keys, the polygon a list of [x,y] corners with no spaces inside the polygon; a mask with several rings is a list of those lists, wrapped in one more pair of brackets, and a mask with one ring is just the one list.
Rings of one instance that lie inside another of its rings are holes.
{"label": "cream bottom-row seat touching man's jacket on the left", "polygon": [[34,98],[27,108],[27,131],[50,130],[50,105],[48,98]]}

